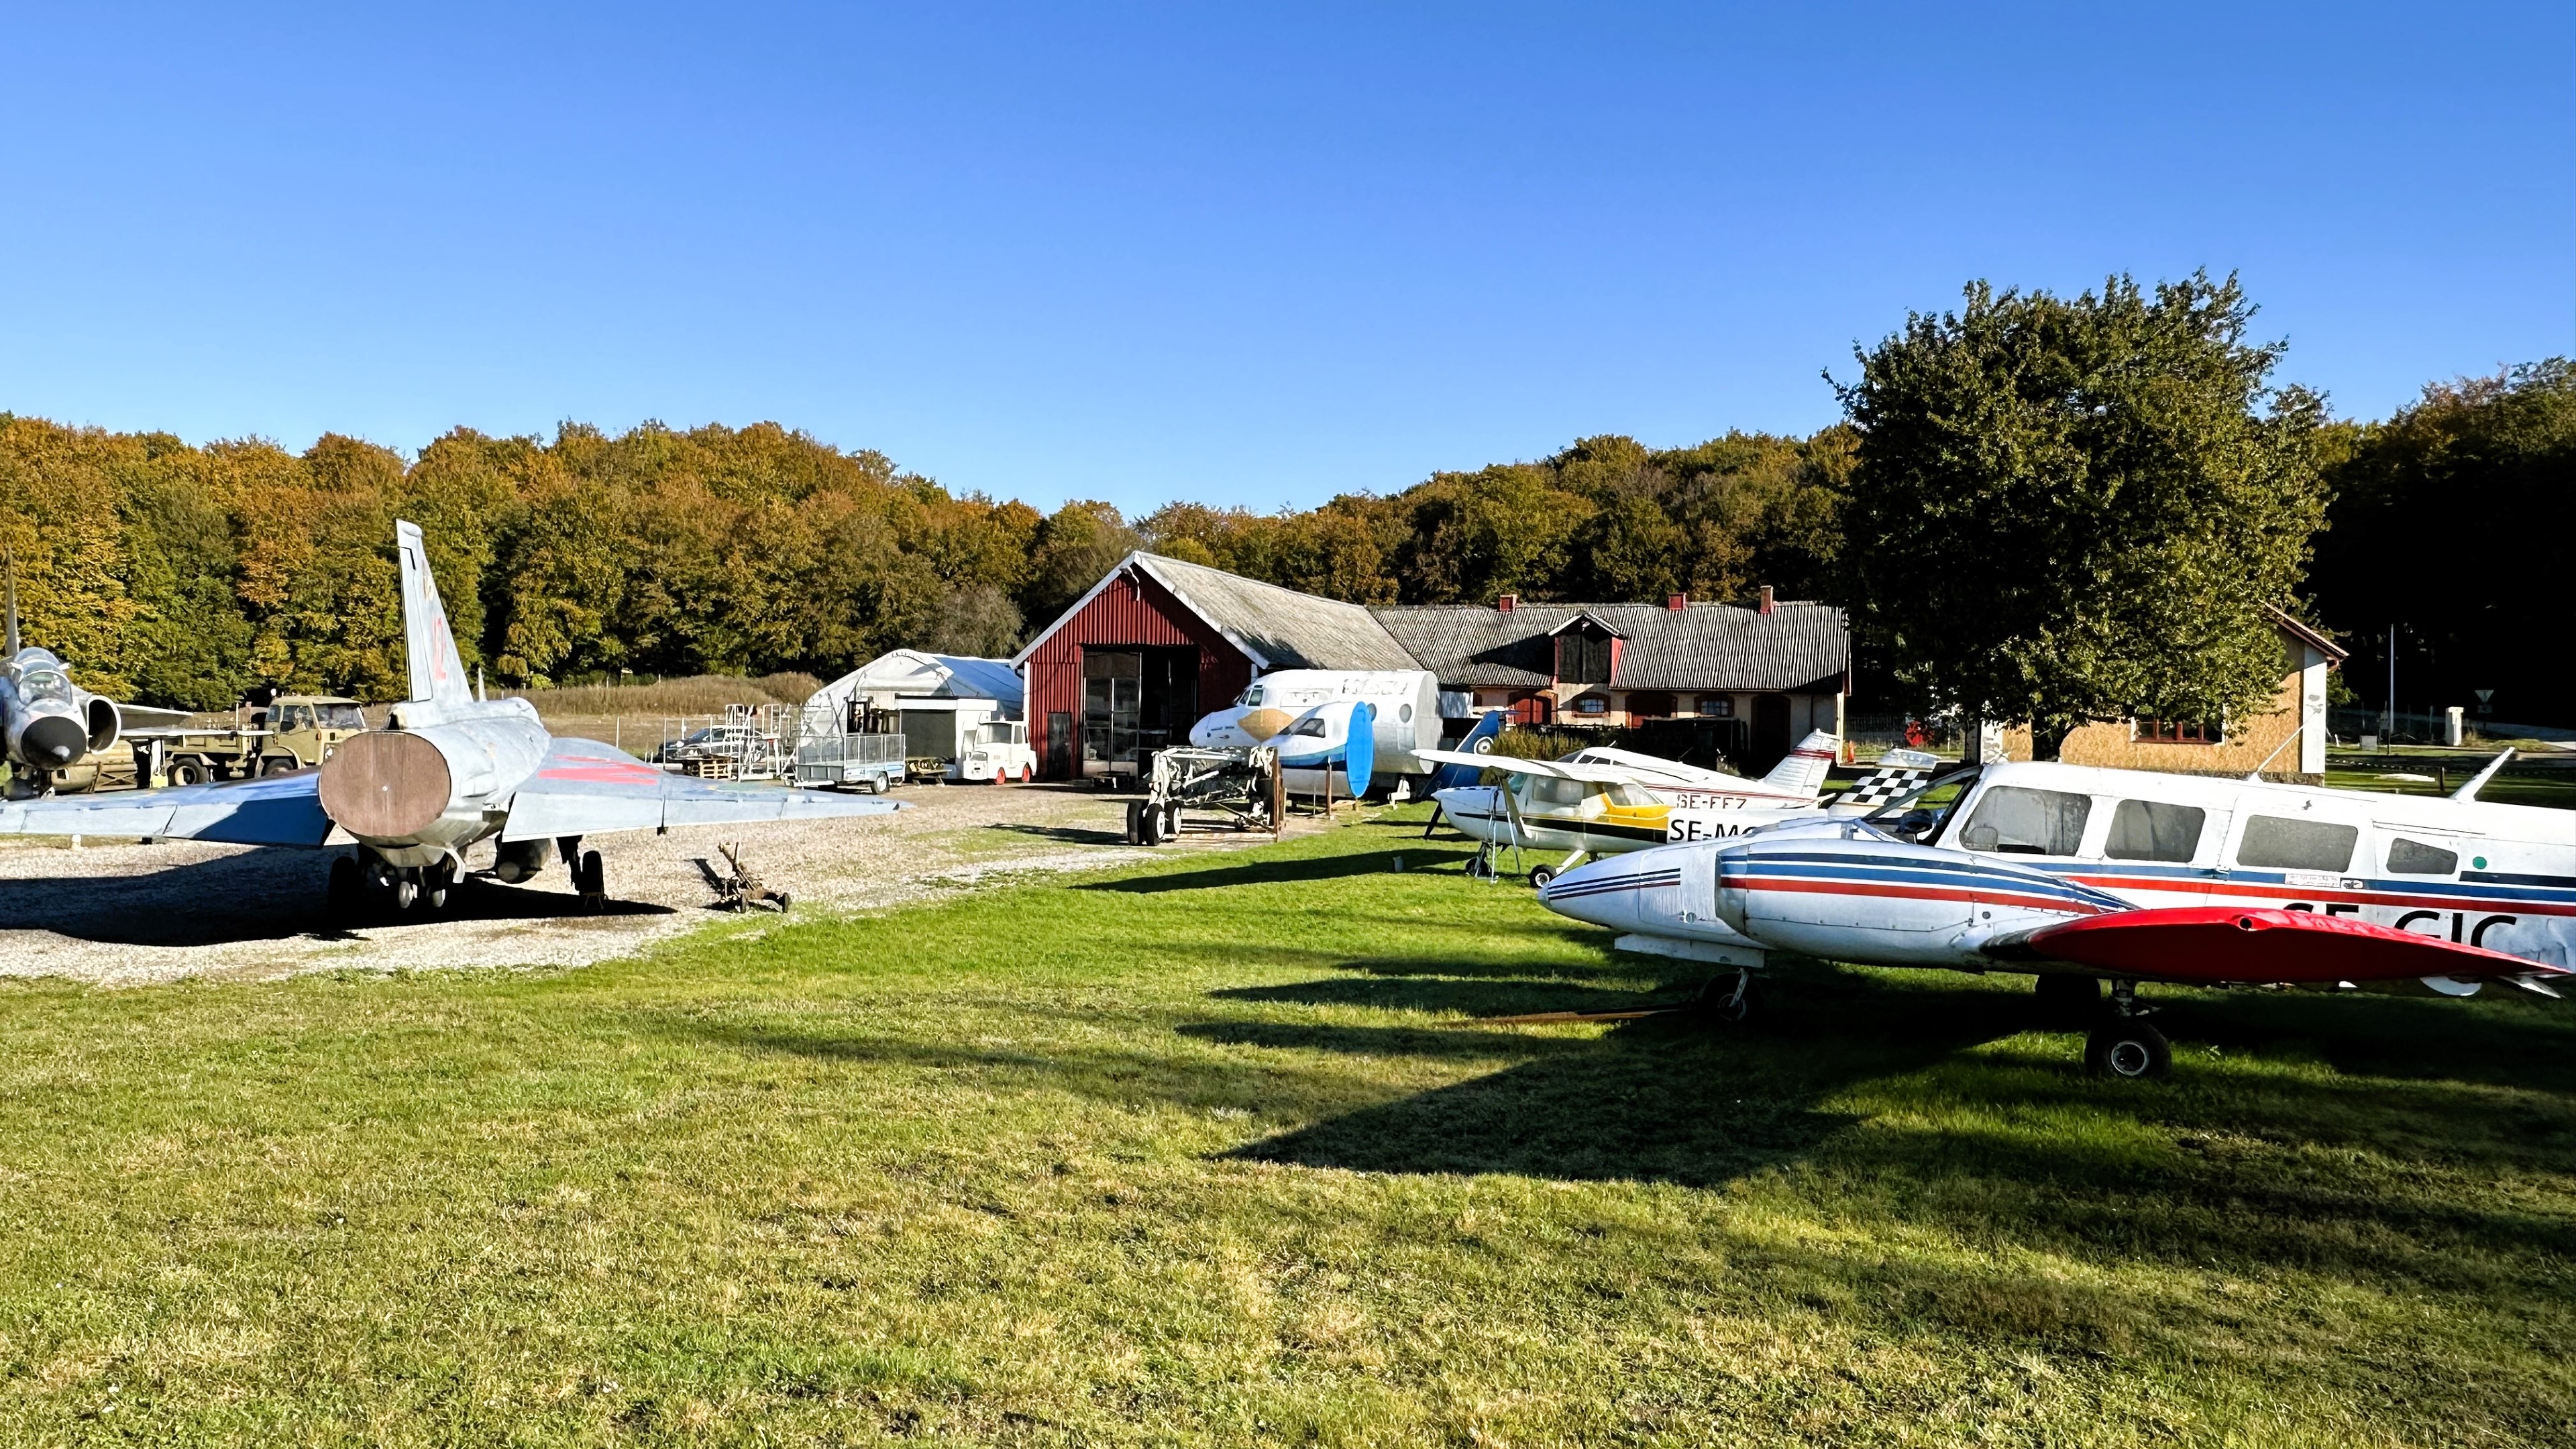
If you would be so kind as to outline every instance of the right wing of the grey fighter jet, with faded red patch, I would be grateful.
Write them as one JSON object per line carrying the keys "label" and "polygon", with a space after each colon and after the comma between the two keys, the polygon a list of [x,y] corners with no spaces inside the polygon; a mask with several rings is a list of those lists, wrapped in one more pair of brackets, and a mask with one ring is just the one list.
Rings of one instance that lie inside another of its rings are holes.
{"label": "right wing of the grey fighter jet, with faded red patch", "polygon": [[546,761],[510,797],[502,841],[595,835],[603,830],[659,830],[667,825],[755,825],[765,820],[827,820],[884,815],[894,799],[726,784],[675,776],[598,740],[554,740]]}

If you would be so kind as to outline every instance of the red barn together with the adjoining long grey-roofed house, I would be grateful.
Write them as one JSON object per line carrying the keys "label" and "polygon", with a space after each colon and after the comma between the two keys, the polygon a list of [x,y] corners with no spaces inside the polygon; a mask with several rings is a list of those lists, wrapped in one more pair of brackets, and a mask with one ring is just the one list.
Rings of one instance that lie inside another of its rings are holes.
{"label": "red barn together with the adjoining long grey-roofed house", "polygon": [[1705,724],[1765,768],[1842,730],[1852,647],[1839,608],[1780,603],[1360,606],[1159,554],[1128,554],[1012,660],[1046,779],[1108,773],[1270,670],[1430,670],[1471,709],[1525,724]]}

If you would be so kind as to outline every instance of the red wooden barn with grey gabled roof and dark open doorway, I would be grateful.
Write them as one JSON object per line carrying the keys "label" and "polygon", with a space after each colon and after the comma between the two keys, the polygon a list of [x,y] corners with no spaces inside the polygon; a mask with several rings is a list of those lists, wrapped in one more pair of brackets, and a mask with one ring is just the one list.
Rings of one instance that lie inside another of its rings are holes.
{"label": "red wooden barn with grey gabled roof and dark open doorway", "polygon": [[1260,673],[1419,668],[1358,603],[1141,552],[1010,663],[1043,779],[1133,771]]}

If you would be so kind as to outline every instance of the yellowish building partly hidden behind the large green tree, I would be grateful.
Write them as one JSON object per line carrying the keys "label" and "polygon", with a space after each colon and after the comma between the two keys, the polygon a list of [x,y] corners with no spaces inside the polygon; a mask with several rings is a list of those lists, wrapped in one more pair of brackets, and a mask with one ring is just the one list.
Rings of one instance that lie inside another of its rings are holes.
{"label": "yellowish building partly hidden behind the large green tree", "polygon": [[[2344,663],[2347,650],[2272,608],[2280,632],[2282,676],[2272,706],[2246,719],[2110,719],[2081,724],[2066,735],[2058,758],[2069,766],[2110,766],[2130,771],[2182,773],[2326,773],[2326,670]],[[2290,748],[2290,737],[2298,745]],[[2030,727],[2004,732],[2004,753],[2030,758]]]}

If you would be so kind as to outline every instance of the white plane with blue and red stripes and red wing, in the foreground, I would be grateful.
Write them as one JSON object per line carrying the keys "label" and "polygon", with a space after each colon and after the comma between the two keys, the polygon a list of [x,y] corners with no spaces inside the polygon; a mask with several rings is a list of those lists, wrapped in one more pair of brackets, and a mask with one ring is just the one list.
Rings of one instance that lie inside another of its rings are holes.
{"label": "white plane with blue and red stripes and red wing, in the foreground", "polygon": [[1566,871],[1558,915],[1620,949],[1736,967],[1767,951],[1873,967],[2032,972],[2112,1008],[2094,1073],[2156,1078],[2172,1049],[2138,982],[2488,980],[2558,995],[2576,957],[2576,812],[2061,763],[1971,766],[1855,820],[1662,846]]}

